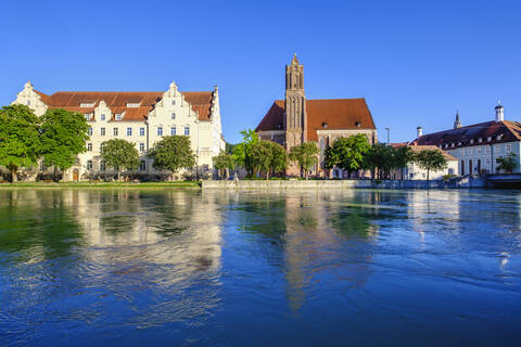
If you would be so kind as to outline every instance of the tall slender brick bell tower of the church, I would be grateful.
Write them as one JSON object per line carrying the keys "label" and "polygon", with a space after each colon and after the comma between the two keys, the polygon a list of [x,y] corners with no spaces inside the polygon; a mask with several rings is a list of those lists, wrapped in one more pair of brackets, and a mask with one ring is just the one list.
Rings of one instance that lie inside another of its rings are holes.
{"label": "tall slender brick bell tower of the church", "polygon": [[296,54],[285,65],[285,149],[290,150],[307,140],[306,95],[304,93],[304,65]]}

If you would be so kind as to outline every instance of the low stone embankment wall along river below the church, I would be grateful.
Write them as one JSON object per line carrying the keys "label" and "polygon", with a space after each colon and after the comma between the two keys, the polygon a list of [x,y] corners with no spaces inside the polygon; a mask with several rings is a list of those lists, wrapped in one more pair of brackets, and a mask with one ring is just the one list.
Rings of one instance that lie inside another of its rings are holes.
{"label": "low stone embankment wall along river below the church", "polygon": [[399,180],[309,180],[309,181],[203,181],[203,189],[287,190],[287,189],[468,189],[485,188],[483,178],[462,178],[449,181]]}

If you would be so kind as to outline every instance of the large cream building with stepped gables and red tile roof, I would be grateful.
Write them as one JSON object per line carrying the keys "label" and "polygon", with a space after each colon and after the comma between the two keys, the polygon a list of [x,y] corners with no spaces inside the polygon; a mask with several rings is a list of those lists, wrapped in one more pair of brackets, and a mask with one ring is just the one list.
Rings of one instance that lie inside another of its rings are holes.
{"label": "large cream building with stepped gables and red tile roof", "polygon": [[125,139],[140,153],[137,175],[157,175],[147,152],[164,136],[189,136],[199,174],[211,175],[212,157],[225,150],[218,89],[181,92],[175,82],[164,92],[68,92],[45,94],[24,86],[13,103],[24,104],[41,116],[48,108],[65,108],[85,115],[90,125],[87,152],[67,170],[65,180],[110,172],[101,159],[104,141]]}

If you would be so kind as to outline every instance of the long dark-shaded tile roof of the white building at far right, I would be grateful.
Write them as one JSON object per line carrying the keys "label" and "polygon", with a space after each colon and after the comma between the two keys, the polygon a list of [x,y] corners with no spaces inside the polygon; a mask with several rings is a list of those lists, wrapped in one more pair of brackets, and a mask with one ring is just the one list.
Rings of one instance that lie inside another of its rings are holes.
{"label": "long dark-shaded tile roof of the white building at far right", "polygon": [[[498,140],[497,137],[500,136]],[[479,139],[482,142],[479,142]],[[488,141],[488,138],[492,138]],[[472,143],[470,141],[472,140]],[[450,129],[445,131],[439,131],[424,134],[411,143],[419,145],[442,145],[445,149],[445,144],[448,144],[447,149],[460,146],[481,145],[484,143],[500,143],[500,142],[513,142],[521,140],[521,123],[518,121],[485,121],[457,129]]]}

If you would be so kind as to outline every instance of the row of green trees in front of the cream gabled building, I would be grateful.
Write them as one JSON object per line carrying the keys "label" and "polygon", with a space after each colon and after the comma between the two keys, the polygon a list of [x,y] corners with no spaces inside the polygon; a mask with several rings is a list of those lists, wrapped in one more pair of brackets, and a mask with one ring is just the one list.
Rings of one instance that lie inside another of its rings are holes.
{"label": "row of green trees in front of the cream gabled building", "polygon": [[[86,152],[89,125],[80,113],[63,108],[49,108],[38,117],[26,105],[10,105],[0,110],[0,165],[11,171],[16,182],[21,167],[37,165],[41,159],[47,167],[62,171],[71,168],[80,153]],[[112,139],[102,143],[102,160],[118,172],[139,166],[139,152],[135,144]],[[175,172],[195,165],[195,156],[188,137],[165,137],[148,153],[156,169]]]}

